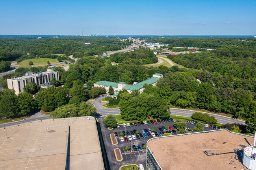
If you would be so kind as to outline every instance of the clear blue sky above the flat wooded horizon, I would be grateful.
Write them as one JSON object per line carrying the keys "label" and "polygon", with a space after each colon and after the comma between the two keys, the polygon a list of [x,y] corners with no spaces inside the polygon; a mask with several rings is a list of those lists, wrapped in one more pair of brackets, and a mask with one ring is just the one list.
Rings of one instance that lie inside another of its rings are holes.
{"label": "clear blue sky above the flat wooded horizon", "polygon": [[256,35],[256,0],[0,0],[0,34]]}

